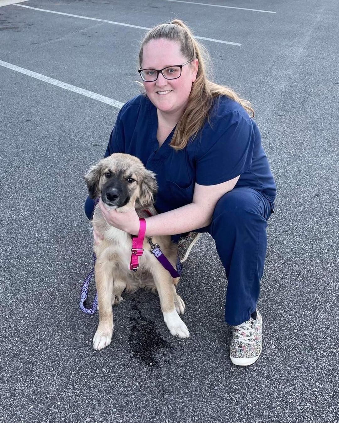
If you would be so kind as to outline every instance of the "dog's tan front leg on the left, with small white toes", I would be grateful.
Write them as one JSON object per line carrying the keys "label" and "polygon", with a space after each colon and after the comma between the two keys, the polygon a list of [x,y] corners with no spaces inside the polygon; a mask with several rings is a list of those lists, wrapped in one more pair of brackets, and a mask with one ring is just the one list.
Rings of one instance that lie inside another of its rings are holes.
{"label": "dog's tan front leg on the left, with small white toes", "polygon": [[113,310],[112,310],[112,267],[107,261],[95,264],[95,283],[99,303],[99,326],[93,338],[93,348],[102,349],[109,345],[113,334]]}

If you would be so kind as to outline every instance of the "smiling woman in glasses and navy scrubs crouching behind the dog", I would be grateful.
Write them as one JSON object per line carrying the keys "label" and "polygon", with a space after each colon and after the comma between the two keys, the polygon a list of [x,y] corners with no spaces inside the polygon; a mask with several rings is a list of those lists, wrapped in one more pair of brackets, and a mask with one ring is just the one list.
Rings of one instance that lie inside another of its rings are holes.
{"label": "smiling woman in glasses and navy scrubs crouching behind the dog", "polygon": [[[139,54],[146,95],[120,110],[105,157],[132,154],[157,174],[159,214],[146,219],[146,236],[172,235],[177,241],[196,231],[215,239],[228,280],[230,357],[236,365],[249,365],[262,349],[256,303],[276,185],[248,115],[253,109],[229,88],[207,80],[203,53],[179,19],[146,34]],[[99,206],[110,225],[138,234],[135,211],[127,216]],[[91,219],[89,198],[85,211]],[[94,236],[98,241],[99,234]]]}

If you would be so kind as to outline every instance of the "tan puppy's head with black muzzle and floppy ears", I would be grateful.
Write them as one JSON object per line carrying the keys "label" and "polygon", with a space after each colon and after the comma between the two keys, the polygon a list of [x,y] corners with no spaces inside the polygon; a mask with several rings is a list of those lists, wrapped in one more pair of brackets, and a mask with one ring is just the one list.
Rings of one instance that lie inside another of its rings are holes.
{"label": "tan puppy's head with black muzzle and floppy ears", "polygon": [[100,197],[107,206],[118,209],[128,203],[142,207],[154,203],[157,181],[154,173],[130,154],[114,153],[100,160],[84,175],[91,198]]}

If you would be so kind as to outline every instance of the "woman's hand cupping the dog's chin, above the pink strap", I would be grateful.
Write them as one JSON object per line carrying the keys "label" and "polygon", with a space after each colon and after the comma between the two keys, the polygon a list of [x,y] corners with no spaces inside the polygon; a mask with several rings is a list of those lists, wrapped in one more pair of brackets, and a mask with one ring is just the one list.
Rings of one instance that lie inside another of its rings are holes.
{"label": "woman's hand cupping the dog's chin, above the pink strap", "polygon": [[134,205],[131,209],[127,209],[126,212],[121,213],[116,210],[107,209],[100,198],[99,207],[102,212],[102,216],[109,225],[121,229],[121,231],[130,233],[131,235],[138,235],[140,222]]}

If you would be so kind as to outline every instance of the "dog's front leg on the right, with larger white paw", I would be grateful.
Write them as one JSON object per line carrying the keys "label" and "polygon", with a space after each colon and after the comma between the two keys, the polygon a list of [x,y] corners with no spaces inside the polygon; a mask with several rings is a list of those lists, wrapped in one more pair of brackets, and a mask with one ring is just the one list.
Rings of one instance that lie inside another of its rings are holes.
{"label": "dog's front leg on the right, with larger white paw", "polygon": [[[164,320],[168,329],[172,335],[179,336],[179,338],[189,338],[190,332],[176,311],[175,302],[179,301],[177,298],[179,295],[175,292],[173,278],[160,264],[152,269],[151,272],[154,278],[155,286],[157,287],[161,310],[163,312]],[[174,294],[176,294],[176,297],[174,297]]]}

